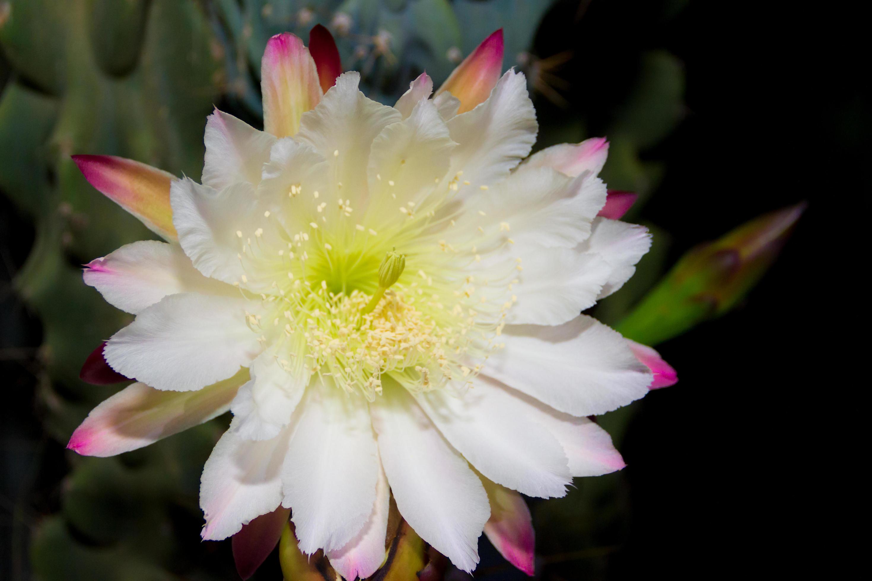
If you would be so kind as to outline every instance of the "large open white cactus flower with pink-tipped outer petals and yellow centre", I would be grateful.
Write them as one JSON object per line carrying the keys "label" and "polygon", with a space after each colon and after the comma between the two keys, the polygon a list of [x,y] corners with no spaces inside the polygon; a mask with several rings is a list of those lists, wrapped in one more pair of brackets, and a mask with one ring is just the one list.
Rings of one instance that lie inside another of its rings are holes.
{"label": "large open white cactus flower with pink-tipped outer petals and yellow centre", "polygon": [[562,497],[573,476],[623,468],[588,416],[654,381],[628,341],[581,314],[630,278],[649,235],[597,215],[604,139],[524,160],[535,111],[524,76],[501,74],[501,34],[433,98],[423,74],[386,106],[357,72],[331,78],[324,32],[326,64],[294,35],[269,40],[265,131],[216,110],[202,183],[75,158],[167,241],[85,268],[136,317],[89,365],[105,357],[110,381],[135,382],[69,447],[119,454],[229,410],[202,473],[201,536],[246,526],[235,551],[262,554],[243,574],[290,509],[303,553],[369,577],[391,495],[460,569],[475,568],[484,531],[532,573],[519,494]]}

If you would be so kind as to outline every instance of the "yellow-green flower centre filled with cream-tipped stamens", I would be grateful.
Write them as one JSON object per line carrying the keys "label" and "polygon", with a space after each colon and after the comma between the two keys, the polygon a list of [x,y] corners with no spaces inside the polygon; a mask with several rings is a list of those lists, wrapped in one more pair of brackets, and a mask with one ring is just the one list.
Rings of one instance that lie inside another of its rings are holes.
{"label": "yellow-green flower centre filled with cream-tipped stamens", "polygon": [[[459,183],[460,173],[447,182],[442,201]],[[235,232],[245,272],[236,284],[261,303],[248,322],[263,347],[290,373],[320,377],[370,401],[381,393],[385,375],[412,391],[469,387],[501,347],[499,335],[515,301],[515,269],[497,280],[475,280],[468,274],[481,260],[474,244],[464,240],[455,247],[421,236],[433,226],[439,204],[426,204],[428,211],[416,215],[414,203],[406,202],[399,206],[406,220],[390,232],[350,220],[337,235],[325,226],[322,194],[303,190],[290,186],[288,199],[297,207],[313,200],[308,230],[288,233],[275,213],[265,212],[253,238]],[[335,219],[351,218],[351,200],[338,198],[337,208]],[[451,217],[440,220],[454,224]],[[501,223],[500,231],[508,232],[508,224]],[[388,240],[403,245],[410,268],[379,287]]]}

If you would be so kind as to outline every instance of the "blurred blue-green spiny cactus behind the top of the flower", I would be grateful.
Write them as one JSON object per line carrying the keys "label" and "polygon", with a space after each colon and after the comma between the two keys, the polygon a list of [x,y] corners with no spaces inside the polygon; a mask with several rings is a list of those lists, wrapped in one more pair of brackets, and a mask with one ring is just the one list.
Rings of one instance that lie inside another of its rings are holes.
{"label": "blurred blue-green spiny cactus behind the top of the flower", "polygon": [[392,105],[426,71],[439,84],[460,59],[503,27],[506,64],[529,50],[554,0],[215,0],[212,22],[227,46],[227,93],[262,114],[261,56],[269,37],[284,31],[308,40],[324,24],[333,31],[342,64],[360,71],[361,90]]}

